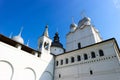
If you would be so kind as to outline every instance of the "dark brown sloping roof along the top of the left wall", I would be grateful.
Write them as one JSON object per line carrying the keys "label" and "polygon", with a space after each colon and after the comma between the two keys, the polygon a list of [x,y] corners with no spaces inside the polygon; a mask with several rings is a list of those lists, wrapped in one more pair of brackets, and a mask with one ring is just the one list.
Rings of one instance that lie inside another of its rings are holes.
{"label": "dark brown sloping roof along the top of the left wall", "polygon": [[28,47],[28,46],[26,46],[24,44],[21,44],[21,43],[19,43],[17,41],[14,41],[14,40],[6,37],[6,36],[3,36],[2,34],[0,34],[0,41],[6,43],[8,45],[11,45],[13,47],[16,47],[17,44],[20,44],[22,46],[21,50],[26,51],[26,52],[28,52],[30,54],[34,54],[33,52],[38,52],[38,54],[41,54],[41,52],[39,52],[37,50],[34,50],[34,49],[32,49],[32,48],[30,48],[30,47]]}

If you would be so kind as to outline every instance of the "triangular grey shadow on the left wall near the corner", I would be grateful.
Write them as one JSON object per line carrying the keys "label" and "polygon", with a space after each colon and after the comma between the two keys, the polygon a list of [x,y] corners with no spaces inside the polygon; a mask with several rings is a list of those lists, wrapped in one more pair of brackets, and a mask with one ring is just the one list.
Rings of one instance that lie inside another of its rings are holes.
{"label": "triangular grey shadow on the left wall near the corner", "polygon": [[54,59],[52,59],[39,80],[53,80]]}

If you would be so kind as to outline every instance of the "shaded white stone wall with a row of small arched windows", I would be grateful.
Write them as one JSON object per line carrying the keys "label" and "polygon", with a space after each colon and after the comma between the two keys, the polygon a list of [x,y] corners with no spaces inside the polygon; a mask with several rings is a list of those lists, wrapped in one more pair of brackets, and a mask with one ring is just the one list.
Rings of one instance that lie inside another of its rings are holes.
{"label": "shaded white stone wall with a row of small arched windows", "polygon": [[[99,55],[99,50],[103,50],[104,56]],[[91,52],[94,51],[96,58],[91,58]],[[116,53],[118,50],[114,40],[101,44],[86,47],[80,50],[68,52],[56,57],[58,66],[55,66],[54,80],[120,80],[120,63]],[[88,59],[84,60],[84,54]],[[77,56],[81,56],[81,61],[77,61]],[[71,57],[75,61],[71,63]],[[68,58],[68,64],[65,59]],[[63,60],[63,65],[61,65]],[[92,74],[90,74],[92,71]]]}

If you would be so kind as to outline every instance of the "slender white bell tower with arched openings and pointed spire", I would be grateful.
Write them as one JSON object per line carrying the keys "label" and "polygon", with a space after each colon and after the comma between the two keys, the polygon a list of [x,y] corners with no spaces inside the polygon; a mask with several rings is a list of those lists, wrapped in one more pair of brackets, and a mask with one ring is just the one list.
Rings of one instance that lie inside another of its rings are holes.
{"label": "slender white bell tower with arched openings and pointed spire", "polygon": [[49,38],[48,25],[46,25],[43,35],[38,40],[38,50],[42,53],[50,53],[50,46],[52,40]]}

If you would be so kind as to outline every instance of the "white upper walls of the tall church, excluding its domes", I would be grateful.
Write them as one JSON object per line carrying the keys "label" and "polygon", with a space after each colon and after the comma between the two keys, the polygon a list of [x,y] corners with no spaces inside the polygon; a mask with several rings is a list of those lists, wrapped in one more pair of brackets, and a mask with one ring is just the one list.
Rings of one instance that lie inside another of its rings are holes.
{"label": "white upper walls of the tall church, excluding its domes", "polygon": [[66,39],[66,51],[78,49],[78,43],[81,43],[81,47],[85,47],[101,41],[99,33],[91,25],[82,29],[77,28],[75,32],[69,33]]}

